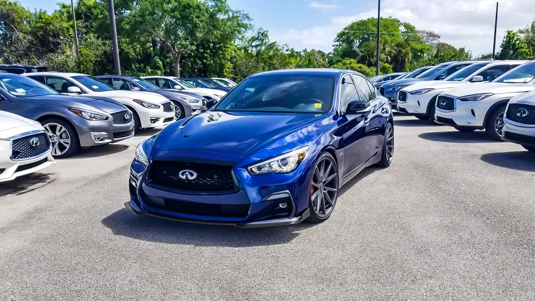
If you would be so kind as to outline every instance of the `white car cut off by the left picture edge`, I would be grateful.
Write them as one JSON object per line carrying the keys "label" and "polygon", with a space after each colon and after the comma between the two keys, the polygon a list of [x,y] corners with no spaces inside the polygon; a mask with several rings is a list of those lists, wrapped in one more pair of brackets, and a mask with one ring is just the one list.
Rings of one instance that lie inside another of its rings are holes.
{"label": "white car cut off by the left picture edge", "polygon": [[0,182],[55,164],[52,145],[39,122],[0,111]]}

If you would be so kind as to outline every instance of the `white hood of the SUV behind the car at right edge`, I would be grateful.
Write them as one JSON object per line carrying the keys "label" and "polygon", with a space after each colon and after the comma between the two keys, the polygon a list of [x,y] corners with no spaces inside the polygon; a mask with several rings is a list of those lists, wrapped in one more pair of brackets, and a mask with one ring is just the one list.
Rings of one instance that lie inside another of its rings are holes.
{"label": "white hood of the SUV behind the car at right edge", "polygon": [[531,90],[533,90],[533,84],[531,83],[488,82],[480,84],[467,84],[461,87],[453,88],[448,90],[447,94],[461,97],[481,93],[504,94]]}

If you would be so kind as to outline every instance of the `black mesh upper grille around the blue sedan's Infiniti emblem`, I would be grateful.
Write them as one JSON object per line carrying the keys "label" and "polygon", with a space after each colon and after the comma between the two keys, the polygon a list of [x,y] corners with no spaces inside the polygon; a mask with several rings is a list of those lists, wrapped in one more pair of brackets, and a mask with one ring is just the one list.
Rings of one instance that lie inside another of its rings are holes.
{"label": "black mesh upper grille around the blue sedan's Infiniti emblem", "polygon": [[[194,180],[179,177],[180,171],[194,171]],[[147,176],[151,184],[184,192],[224,193],[234,191],[232,166],[179,161],[152,161]]]}

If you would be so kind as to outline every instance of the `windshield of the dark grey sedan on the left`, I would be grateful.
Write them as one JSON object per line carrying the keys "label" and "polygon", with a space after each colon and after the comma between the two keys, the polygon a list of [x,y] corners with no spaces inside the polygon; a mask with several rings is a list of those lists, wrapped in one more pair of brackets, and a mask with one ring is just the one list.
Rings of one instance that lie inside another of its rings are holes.
{"label": "windshield of the dark grey sedan on the left", "polygon": [[26,76],[0,73],[0,87],[16,97],[57,95],[56,90]]}

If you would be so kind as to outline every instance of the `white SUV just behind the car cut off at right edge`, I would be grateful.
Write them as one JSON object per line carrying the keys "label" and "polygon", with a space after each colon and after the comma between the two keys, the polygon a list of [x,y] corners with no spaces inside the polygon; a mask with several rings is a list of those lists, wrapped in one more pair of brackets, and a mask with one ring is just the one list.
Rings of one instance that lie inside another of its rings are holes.
{"label": "white SUV just behind the car cut off at right edge", "polygon": [[506,72],[489,83],[453,88],[437,97],[435,122],[463,132],[485,129],[500,141],[503,112],[509,100],[535,90],[535,60]]}

